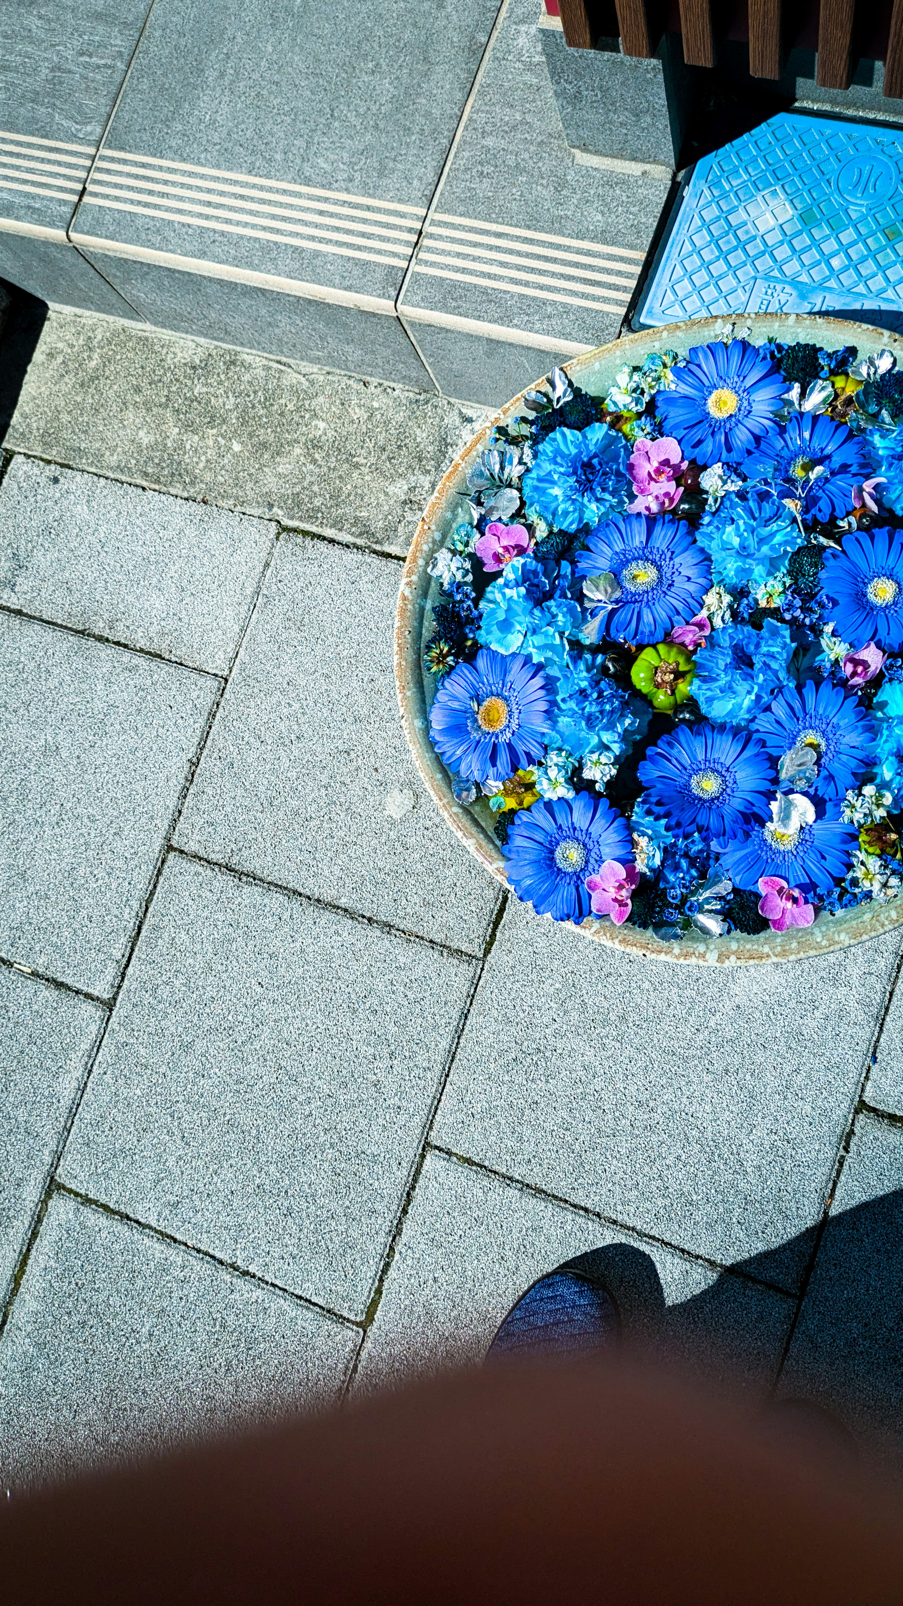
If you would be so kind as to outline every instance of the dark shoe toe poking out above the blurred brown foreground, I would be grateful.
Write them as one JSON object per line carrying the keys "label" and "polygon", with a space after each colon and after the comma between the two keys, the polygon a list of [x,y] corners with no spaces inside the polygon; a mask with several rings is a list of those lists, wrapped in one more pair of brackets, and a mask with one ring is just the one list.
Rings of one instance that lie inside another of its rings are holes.
{"label": "dark shoe toe poking out above the blurred brown foreground", "polygon": [[586,1269],[590,1256],[566,1261],[540,1277],[505,1317],[487,1362],[527,1355],[577,1360],[611,1349],[620,1336],[620,1317],[609,1290]]}

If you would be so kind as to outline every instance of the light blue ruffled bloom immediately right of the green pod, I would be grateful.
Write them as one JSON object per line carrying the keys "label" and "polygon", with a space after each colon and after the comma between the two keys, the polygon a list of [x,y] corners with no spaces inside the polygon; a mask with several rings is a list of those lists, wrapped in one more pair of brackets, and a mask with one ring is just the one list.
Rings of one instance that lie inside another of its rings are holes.
{"label": "light blue ruffled bloom immediately right of the green pod", "polygon": [[693,695],[707,719],[746,724],[791,679],[794,642],[787,625],[766,618],[762,630],[723,625],[696,654]]}

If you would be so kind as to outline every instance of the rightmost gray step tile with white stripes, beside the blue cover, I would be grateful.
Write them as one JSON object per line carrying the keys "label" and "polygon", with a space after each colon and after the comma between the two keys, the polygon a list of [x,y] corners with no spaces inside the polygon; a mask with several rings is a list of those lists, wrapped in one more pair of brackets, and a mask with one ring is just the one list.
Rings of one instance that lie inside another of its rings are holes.
{"label": "rightmost gray step tile with white stripes, beside the blue cover", "polygon": [[455,339],[442,320],[572,342],[572,352],[615,339],[668,193],[664,173],[574,162],[538,14],[537,0],[511,0],[505,13],[400,300],[440,390],[484,403],[500,400],[484,337],[463,328]]}

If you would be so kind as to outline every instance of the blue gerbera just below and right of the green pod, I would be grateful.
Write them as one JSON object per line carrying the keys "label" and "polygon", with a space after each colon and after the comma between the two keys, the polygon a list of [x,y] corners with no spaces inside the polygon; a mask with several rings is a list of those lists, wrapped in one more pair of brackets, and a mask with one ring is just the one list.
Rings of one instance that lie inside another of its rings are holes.
{"label": "blue gerbera just below and right of the green pod", "polygon": [[638,768],[646,801],[684,835],[736,837],[774,790],[774,764],[755,736],[681,724]]}

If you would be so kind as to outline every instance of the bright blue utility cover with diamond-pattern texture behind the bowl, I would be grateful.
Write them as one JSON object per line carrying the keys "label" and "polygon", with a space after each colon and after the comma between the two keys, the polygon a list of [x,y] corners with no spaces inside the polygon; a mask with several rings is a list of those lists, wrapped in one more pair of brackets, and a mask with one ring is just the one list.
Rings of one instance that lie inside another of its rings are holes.
{"label": "bright blue utility cover with diamond-pattern texture behind the bowl", "polygon": [[696,164],[638,321],[742,312],[903,329],[903,133],[779,112]]}

